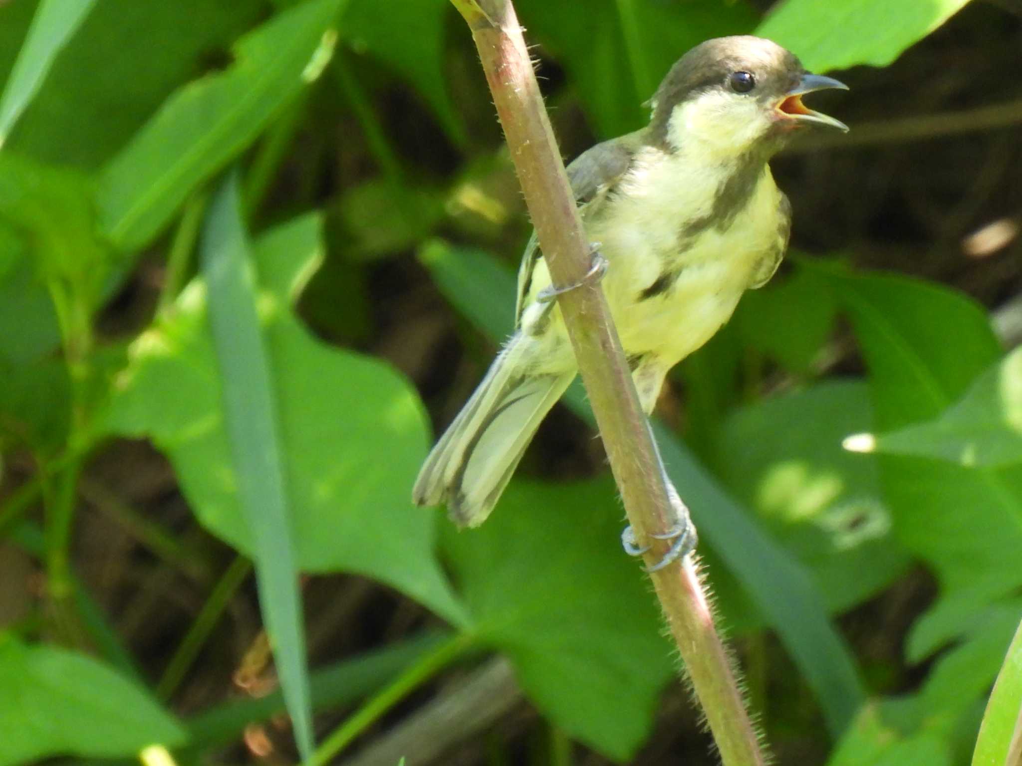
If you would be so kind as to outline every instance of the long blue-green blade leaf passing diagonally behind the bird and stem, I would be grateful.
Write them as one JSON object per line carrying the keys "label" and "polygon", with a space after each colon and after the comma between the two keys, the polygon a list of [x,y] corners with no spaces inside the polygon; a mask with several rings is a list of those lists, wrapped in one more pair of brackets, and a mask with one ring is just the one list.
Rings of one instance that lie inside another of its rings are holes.
{"label": "long blue-green blade leaf passing diagonally behind the bird and stem", "polygon": [[[510,331],[514,277],[485,253],[433,242],[420,260],[440,290],[494,340]],[[503,296],[503,298],[502,298]],[[579,390],[567,403],[592,423]],[[750,521],[750,514],[721,487],[677,434],[654,424],[671,480],[692,511],[700,539],[723,560],[801,668],[820,698],[828,723],[840,731],[857,709],[863,691],[854,663],[827,619],[810,575]]]}

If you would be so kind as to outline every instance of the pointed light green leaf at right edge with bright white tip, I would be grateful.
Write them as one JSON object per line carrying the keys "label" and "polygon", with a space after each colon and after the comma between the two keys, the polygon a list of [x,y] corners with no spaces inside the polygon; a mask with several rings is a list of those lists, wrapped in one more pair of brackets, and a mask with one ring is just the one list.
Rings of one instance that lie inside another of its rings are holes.
{"label": "pointed light green leaf at right edge with bright white tip", "polygon": [[980,375],[938,418],[880,434],[879,452],[915,454],[966,467],[1022,463],[1022,349]]}

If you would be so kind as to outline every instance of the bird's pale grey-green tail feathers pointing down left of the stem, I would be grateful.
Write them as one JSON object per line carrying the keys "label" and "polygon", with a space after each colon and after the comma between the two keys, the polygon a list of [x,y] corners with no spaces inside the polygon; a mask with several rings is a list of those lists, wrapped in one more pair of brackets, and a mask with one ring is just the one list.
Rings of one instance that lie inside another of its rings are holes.
{"label": "bird's pale grey-green tail feathers pointing down left of the stem", "polygon": [[525,447],[574,373],[537,375],[523,364],[515,335],[419,471],[417,506],[446,502],[461,526],[485,521],[511,480]]}

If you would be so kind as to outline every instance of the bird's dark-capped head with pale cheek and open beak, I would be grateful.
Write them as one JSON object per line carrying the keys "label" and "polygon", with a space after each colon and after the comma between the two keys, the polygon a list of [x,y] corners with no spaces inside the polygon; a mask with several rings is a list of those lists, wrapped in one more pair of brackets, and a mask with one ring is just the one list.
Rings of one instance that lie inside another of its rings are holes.
{"label": "bird's dark-capped head with pale cheek and open beak", "polygon": [[729,155],[772,155],[801,127],[847,131],[834,117],[802,103],[802,96],[847,86],[805,71],[798,58],[770,40],[723,37],[707,40],[670,68],[652,99],[651,127],[673,149]]}

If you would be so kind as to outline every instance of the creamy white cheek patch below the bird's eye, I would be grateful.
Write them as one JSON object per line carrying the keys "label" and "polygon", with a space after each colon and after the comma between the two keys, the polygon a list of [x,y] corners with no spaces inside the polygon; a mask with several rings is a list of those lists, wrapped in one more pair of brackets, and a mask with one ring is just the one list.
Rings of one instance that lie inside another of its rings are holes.
{"label": "creamy white cheek patch below the bird's eye", "polygon": [[684,149],[693,140],[713,153],[744,152],[770,128],[770,118],[754,99],[712,90],[675,107],[669,139]]}

